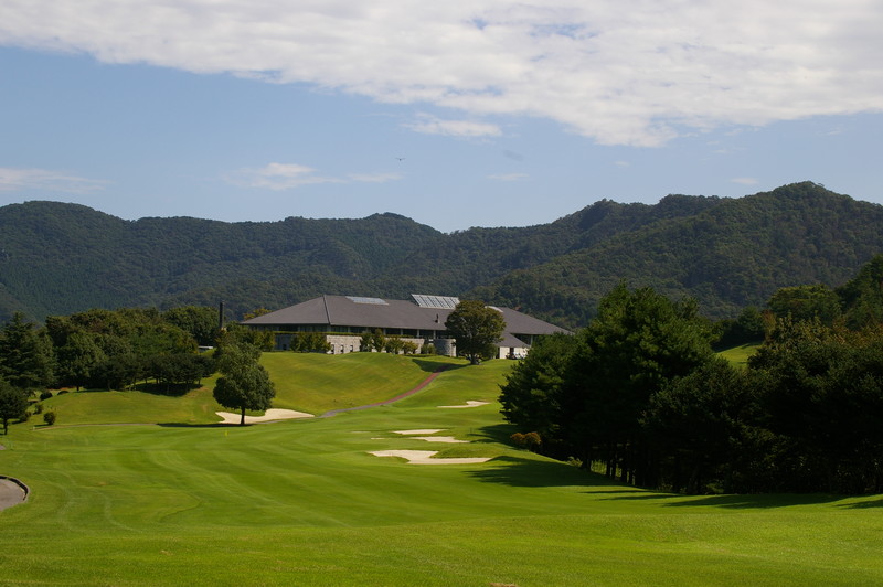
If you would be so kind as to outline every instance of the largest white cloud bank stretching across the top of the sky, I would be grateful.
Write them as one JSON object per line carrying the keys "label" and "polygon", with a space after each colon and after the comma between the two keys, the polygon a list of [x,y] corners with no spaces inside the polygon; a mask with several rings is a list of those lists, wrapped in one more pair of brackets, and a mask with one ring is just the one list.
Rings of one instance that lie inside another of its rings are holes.
{"label": "largest white cloud bank stretching across the top of the sky", "polygon": [[[3,0],[0,44],[556,120],[606,145],[883,111],[876,0]],[[483,122],[411,128],[494,136]],[[482,134],[483,132],[483,134]]]}

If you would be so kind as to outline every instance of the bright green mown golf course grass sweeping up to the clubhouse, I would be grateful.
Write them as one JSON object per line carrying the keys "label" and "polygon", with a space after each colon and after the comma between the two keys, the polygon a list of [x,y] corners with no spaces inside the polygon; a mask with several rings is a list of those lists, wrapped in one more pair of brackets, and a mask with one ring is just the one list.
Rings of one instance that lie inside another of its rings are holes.
{"label": "bright green mown golf course grass sweeping up to the clubhouse", "polygon": [[[211,387],[78,392],[0,436],[3,585],[880,585],[883,499],[683,497],[518,450],[499,415],[512,362],[269,353],[275,407],[321,414],[220,426]],[[467,401],[472,408],[440,408]],[[103,426],[94,424],[141,424]],[[89,425],[92,426],[84,426]],[[470,444],[401,430],[440,429]],[[483,465],[408,465],[439,450]]]}

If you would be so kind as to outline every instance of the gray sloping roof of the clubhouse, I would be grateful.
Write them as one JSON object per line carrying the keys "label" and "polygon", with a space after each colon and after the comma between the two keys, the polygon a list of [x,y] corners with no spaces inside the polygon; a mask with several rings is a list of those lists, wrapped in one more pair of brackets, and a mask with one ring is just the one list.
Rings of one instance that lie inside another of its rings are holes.
{"label": "gray sloping roof of the clubhouse", "polygon": [[[358,301],[357,301],[358,300]],[[508,334],[552,334],[566,332],[549,322],[511,308],[497,308],[506,320]],[[445,321],[454,311],[447,308],[422,308],[407,300],[322,296],[243,322],[255,327],[329,325],[403,328],[409,330],[445,330]]]}

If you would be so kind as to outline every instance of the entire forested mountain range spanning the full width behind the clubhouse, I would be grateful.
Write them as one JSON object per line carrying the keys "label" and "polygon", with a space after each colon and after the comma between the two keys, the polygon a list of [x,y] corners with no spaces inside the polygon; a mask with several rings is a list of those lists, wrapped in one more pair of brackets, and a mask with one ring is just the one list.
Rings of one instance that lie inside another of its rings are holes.
{"label": "entire forested mountain range spanning the full width behind the clubhouse", "polygon": [[224,300],[237,319],[320,294],[432,292],[576,327],[621,279],[734,317],[780,287],[841,286],[883,252],[881,227],[883,206],[811,182],[741,199],[603,200],[550,224],[451,234],[395,214],[124,221],[29,202],[0,207],[0,318]]}

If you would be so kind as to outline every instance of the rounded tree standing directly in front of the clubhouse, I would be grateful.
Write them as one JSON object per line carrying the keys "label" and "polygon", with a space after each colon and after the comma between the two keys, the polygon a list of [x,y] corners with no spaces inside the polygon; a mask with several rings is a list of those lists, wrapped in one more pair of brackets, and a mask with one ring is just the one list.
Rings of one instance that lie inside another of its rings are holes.
{"label": "rounded tree standing directly in front of the clubhouse", "polygon": [[464,300],[445,321],[448,334],[457,341],[457,352],[474,365],[485,356],[493,356],[496,343],[502,340],[506,320],[499,310],[479,300]]}

